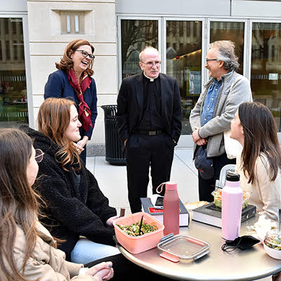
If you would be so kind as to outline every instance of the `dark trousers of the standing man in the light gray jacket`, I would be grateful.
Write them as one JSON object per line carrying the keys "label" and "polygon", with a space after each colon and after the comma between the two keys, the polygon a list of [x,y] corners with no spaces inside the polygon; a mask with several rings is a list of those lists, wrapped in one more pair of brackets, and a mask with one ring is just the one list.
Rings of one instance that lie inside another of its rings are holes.
{"label": "dark trousers of the standing man in the light gray jacket", "polygon": [[226,153],[223,155],[213,157],[213,164],[214,164],[214,171],[215,175],[214,178],[209,180],[205,180],[200,176],[200,172],[198,171],[198,186],[199,186],[199,200],[200,201],[207,201],[213,202],[214,197],[211,195],[211,192],[215,190],[216,180],[219,179],[219,175],[221,172],[221,168],[226,166],[227,164],[236,164],[236,159],[228,159]]}

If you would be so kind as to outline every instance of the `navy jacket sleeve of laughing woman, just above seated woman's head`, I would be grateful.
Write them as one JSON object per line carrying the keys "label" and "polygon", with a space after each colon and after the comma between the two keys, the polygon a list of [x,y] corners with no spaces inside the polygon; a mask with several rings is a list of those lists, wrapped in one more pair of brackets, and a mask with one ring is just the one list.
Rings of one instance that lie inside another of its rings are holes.
{"label": "navy jacket sleeve of laughing woman, just above seated woman's head", "polygon": [[58,72],[53,72],[48,76],[48,81],[44,89],[44,99],[46,98],[62,98],[63,89],[65,87],[63,77]]}

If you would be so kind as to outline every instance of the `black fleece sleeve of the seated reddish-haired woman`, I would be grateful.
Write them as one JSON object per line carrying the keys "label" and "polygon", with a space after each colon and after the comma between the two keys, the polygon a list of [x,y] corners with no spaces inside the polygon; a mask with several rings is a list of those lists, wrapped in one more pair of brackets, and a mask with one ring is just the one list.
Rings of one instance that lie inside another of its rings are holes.
{"label": "black fleece sleeve of the seated reddish-haired woman", "polygon": [[[40,165],[39,169],[41,171],[39,192],[44,200],[46,200],[48,212],[51,213],[51,216],[70,231],[84,235],[90,240],[103,243],[105,241],[112,241],[106,238],[112,238],[114,229],[106,227],[98,214],[93,212],[94,209],[92,211],[80,200],[79,195],[77,195],[78,191],[71,185],[72,182],[67,181],[63,170],[58,169],[58,165],[52,162],[41,162],[44,166]],[[71,173],[69,174],[67,176],[72,177]],[[93,184],[93,181],[90,184]],[[92,207],[94,204],[102,204],[103,208],[98,209],[98,211],[102,212],[105,209],[107,215],[103,216],[103,220],[107,216],[114,216],[116,214],[114,209],[105,208],[108,201],[98,189],[98,185],[94,189],[93,187],[91,188],[90,194],[88,193],[88,188],[83,190],[83,192],[87,192],[87,196],[89,197],[89,195],[93,196],[96,191],[97,200],[96,202],[94,199],[91,200]]]}

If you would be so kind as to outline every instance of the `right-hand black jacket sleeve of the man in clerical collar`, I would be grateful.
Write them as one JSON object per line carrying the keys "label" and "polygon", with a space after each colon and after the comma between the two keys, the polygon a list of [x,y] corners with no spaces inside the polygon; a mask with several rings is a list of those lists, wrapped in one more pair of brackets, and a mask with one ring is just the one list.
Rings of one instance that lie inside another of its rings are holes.
{"label": "right-hand black jacket sleeve of the man in clerical collar", "polygon": [[173,119],[171,122],[171,137],[178,143],[181,136],[181,93],[178,89],[178,82],[174,84],[174,106]]}

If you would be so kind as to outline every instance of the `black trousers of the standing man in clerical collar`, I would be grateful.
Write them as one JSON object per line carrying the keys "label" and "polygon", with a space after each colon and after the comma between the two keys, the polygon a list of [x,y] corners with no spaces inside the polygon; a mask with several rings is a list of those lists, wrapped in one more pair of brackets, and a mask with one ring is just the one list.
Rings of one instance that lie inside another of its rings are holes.
{"label": "black trousers of the standing man in clerical collar", "polygon": [[[126,143],[128,197],[131,212],[141,211],[141,197],[147,197],[149,169],[152,192],[161,183],[169,181],[174,157],[174,142],[166,134],[157,136],[130,136]],[[160,195],[164,195],[164,188]]]}

